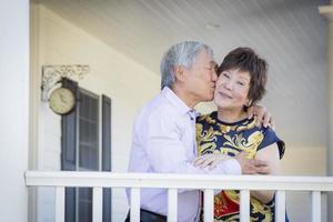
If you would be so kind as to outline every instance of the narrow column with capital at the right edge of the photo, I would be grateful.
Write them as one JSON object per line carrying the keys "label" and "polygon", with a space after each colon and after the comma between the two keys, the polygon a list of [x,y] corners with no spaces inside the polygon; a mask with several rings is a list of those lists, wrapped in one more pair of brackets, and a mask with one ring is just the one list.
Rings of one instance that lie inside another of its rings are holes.
{"label": "narrow column with capital at the right edge of the photo", "polygon": [[[333,6],[319,8],[327,21],[327,84],[329,84],[329,137],[327,137],[327,175],[333,176]],[[327,221],[333,221],[333,193],[327,195]]]}

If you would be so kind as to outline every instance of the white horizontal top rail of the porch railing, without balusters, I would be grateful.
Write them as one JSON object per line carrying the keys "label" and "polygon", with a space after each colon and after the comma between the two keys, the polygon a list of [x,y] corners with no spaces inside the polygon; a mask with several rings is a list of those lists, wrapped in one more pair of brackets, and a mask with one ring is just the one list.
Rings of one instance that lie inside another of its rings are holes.
{"label": "white horizontal top rail of the porch railing, without balusters", "polygon": [[198,175],[165,173],[27,171],[26,184],[28,186],[333,191],[333,176]]}

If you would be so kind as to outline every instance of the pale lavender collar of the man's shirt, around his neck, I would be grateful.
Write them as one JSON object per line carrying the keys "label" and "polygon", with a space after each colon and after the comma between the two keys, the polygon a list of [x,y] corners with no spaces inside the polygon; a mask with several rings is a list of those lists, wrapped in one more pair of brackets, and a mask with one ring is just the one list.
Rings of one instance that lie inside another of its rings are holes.
{"label": "pale lavender collar of the man's shirt, around his neck", "polygon": [[161,94],[176,109],[180,114],[196,113],[194,109],[189,108],[169,87],[164,87]]}

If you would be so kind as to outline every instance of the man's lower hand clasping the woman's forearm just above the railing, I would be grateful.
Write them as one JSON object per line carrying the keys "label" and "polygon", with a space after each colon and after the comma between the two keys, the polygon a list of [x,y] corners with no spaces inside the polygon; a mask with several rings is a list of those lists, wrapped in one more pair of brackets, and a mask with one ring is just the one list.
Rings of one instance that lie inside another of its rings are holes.
{"label": "man's lower hand clasping the woman's forearm just above the railing", "polygon": [[246,159],[246,152],[240,152],[234,157],[242,168],[242,174],[268,174],[270,172],[269,165],[262,160]]}

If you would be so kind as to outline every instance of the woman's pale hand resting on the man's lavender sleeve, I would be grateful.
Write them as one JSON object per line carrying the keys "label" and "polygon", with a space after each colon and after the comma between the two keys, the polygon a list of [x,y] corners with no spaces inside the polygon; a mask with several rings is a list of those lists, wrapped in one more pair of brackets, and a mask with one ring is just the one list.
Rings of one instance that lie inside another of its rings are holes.
{"label": "woman's pale hand resting on the man's lavender sleeve", "polygon": [[231,157],[226,154],[221,153],[211,153],[211,154],[204,154],[199,158],[196,158],[193,162],[194,167],[209,168],[209,170],[214,169],[219,163],[221,163],[224,160],[231,159]]}

